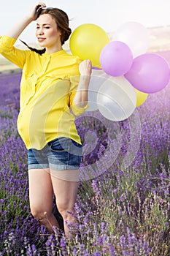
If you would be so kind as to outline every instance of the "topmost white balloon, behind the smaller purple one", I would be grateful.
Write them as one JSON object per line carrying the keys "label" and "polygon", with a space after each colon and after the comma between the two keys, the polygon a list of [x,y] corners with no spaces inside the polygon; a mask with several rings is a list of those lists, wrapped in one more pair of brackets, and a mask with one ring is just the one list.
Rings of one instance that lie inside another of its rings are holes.
{"label": "topmost white balloon, behind the smaller purple one", "polygon": [[138,22],[123,23],[115,31],[115,40],[125,42],[131,48],[134,58],[147,52],[149,45],[149,33],[147,29]]}

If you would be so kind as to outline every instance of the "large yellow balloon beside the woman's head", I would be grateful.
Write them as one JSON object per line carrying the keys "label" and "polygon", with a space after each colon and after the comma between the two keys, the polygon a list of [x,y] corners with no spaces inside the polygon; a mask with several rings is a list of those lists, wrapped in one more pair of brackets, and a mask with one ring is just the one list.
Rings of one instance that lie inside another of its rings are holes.
{"label": "large yellow balloon beside the woman's head", "polygon": [[72,32],[69,48],[74,56],[79,56],[82,60],[90,59],[93,67],[101,67],[101,50],[109,42],[109,36],[101,27],[86,23]]}

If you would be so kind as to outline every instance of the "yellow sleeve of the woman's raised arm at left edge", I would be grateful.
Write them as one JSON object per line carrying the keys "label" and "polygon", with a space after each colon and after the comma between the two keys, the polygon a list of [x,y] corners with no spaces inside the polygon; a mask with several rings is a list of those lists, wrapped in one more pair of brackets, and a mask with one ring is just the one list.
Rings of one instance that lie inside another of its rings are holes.
{"label": "yellow sleeve of the woman's raised arm at left edge", "polygon": [[23,69],[24,64],[26,63],[26,56],[28,50],[21,50],[14,47],[16,39],[1,36],[0,37],[0,54],[6,59]]}

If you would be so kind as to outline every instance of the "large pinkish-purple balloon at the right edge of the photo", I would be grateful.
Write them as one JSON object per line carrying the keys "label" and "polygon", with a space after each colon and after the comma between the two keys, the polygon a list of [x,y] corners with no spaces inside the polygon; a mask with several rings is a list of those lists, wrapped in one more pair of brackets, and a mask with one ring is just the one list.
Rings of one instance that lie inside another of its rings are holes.
{"label": "large pinkish-purple balloon at the right edge of the photo", "polygon": [[134,59],[131,69],[124,76],[137,90],[152,94],[169,83],[169,64],[156,53],[145,53]]}

